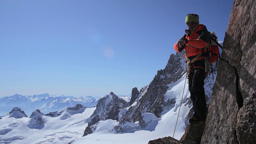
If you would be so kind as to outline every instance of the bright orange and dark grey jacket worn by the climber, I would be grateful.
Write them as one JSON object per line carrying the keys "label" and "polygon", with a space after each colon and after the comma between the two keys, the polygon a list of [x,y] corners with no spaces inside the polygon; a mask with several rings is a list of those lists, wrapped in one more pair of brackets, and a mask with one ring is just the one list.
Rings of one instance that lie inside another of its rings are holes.
{"label": "bright orange and dark grey jacket worn by the climber", "polygon": [[[188,58],[192,59],[193,56],[197,56],[198,54],[200,54],[202,50],[209,44],[211,34],[210,32],[208,32],[206,26],[204,26],[203,24],[198,24],[194,32],[192,33],[190,32],[190,30],[185,30],[185,32],[188,42],[182,48],[179,48],[177,43],[174,44],[174,50],[176,52],[181,52],[182,50],[186,49]],[[207,52],[207,50],[205,50],[205,52]],[[200,56],[198,59],[203,58],[203,56]]]}

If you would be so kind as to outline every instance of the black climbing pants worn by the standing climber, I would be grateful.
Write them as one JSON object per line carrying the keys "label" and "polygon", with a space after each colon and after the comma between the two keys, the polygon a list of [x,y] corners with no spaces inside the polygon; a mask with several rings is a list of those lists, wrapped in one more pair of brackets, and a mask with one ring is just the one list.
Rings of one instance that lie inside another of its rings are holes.
{"label": "black climbing pants worn by the standing climber", "polygon": [[188,89],[193,103],[196,118],[205,119],[207,115],[206,98],[204,93],[204,79],[206,72],[204,70],[204,60],[196,60],[189,66]]}

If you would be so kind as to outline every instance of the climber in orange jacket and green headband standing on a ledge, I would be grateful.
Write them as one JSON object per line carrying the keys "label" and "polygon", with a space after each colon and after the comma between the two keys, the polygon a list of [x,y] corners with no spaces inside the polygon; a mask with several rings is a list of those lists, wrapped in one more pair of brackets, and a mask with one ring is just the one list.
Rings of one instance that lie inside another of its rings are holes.
{"label": "climber in orange jacket and green headband standing on a ledge", "polygon": [[176,52],[185,50],[188,65],[188,90],[193,103],[194,115],[189,119],[191,124],[206,120],[207,107],[204,92],[204,79],[207,76],[205,63],[208,61],[211,34],[206,26],[199,24],[197,14],[188,14],[185,20],[188,30],[186,34],[174,44]]}

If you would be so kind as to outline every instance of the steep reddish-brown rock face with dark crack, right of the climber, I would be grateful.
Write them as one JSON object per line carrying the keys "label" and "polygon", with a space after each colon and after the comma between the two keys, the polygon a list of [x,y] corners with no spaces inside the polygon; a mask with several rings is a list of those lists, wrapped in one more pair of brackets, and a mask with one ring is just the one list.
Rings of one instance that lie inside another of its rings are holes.
{"label": "steep reddish-brown rock face with dark crack, right of the climber", "polygon": [[256,141],[256,1],[236,0],[223,43],[202,144]]}

